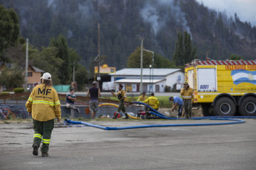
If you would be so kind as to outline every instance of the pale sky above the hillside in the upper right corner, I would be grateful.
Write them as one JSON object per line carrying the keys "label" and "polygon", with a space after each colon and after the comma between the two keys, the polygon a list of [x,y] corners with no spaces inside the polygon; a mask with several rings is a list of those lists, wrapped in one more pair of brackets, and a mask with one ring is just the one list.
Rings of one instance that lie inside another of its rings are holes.
{"label": "pale sky above the hillside in the upper right corner", "polygon": [[256,26],[256,0],[197,0],[206,7],[225,11],[228,16],[237,16],[241,21],[249,21]]}

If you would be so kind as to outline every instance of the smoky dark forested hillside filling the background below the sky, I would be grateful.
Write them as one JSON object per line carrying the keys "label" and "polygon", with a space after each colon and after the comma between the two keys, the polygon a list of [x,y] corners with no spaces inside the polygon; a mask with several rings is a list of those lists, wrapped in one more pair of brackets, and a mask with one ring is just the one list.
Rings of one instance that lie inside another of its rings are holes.
{"label": "smoky dark forested hillside filling the background below the sky", "polygon": [[232,53],[255,59],[256,27],[239,16],[226,16],[195,0],[0,0],[19,16],[21,35],[38,47],[50,38],[65,35],[68,46],[91,66],[97,55],[97,23],[100,23],[100,54],[106,63],[121,69],[128,56],[140,47],[172,60],[179,32],[187,31],[200,59],[226,59]]}

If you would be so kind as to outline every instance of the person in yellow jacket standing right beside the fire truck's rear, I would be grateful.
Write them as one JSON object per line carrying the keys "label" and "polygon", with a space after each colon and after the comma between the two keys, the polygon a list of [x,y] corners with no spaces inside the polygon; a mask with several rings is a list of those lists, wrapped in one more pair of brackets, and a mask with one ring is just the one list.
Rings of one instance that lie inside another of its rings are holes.
{"label": "person in yellow jacket standing right beside the fire truck's rear", "polygon": [[191,99],[193,98],[193,89],[189,87],[188,82],[184,83],[184,87],[183,89],[181,89],[180,95],[183,96],[183,102],[184,102],[183,106],[185,109],[186,119],[191,118],[191,114],[192,114]]}

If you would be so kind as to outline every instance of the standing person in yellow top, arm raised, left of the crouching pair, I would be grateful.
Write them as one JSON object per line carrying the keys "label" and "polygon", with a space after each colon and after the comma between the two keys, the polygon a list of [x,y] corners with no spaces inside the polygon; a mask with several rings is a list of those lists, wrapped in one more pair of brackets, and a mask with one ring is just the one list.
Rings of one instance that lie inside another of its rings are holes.
{"label": "standing person in yellow top, arm raised, left of the crouching pair", "polygon": [[119,91],[117,92],[117,94],[114,94],[114,92],[111,91],[112,95],[119,99],[119,107],[117,109],[116,115],[113,118],[116,119],[117,116],[119,115],[119,112],[122,110],[122,112],[125,113],[125,119],[128,119],[129,116],[128,116],[128,113],[126,112],[125,105],[124,105],[124,102],[126,100],[126,92],[125,90],[122,89],[122,84],[119,84],[118,89]]}

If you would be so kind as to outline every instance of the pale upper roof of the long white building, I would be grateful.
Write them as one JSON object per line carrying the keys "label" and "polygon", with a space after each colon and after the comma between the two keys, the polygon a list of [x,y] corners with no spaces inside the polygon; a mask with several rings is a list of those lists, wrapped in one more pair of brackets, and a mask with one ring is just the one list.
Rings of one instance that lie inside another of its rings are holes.
{"label": "pale upper roof of the long white building", "polygon": [[[152,74],[153,69],[151,69],[151,74]],[[183,72],[182,69],[154,69],[154,76],[166,76],[170,75],[174,72],[181,71]],[[110,73],[109,75],[140,75],[140,68],[125,68],[125,69],[120,69],[116,71],[116,73]],[[145,75],[151,75],[150,74],[150,69],[142,69],[142,74]]]}

